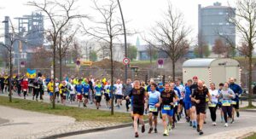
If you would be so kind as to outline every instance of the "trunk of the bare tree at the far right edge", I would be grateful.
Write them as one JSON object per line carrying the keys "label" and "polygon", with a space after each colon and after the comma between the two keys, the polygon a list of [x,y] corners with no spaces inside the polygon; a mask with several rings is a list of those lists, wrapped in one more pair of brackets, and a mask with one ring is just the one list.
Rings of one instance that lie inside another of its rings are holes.
{"label": "trunk of the bare tree at the far right edge", "polygon": [[253,96],[253,90],[252,90],[252,71],[253,71],[253,45],[249,46],[250,48],[250,54],[249,54],[249,84],[248,84],[248,91],[249,91],[249,96],[248,96],[248,107],[253,107],[253,102],[252,102],[252,96]]}

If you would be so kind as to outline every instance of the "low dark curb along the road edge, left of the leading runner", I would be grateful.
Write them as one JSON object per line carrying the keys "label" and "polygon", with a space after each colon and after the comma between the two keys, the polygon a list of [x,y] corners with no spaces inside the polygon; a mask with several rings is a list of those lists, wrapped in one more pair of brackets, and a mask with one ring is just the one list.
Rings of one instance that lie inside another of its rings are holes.
{"label": "low dark curb along the road edge, left of the leading runner", "polygon": [[[144,121],[145,124],[148,123],[148,120]],[[108,127],[100,127],[100,128],[95,128],[95,129],[90,129],[90,130],[78,130],[78,131],[72,131],[72,132],[67,132],[67,133],[62,133],[62,134],[56,134],[52,136],[45,136],[42,139],[53,139],[53,138],[61,138],[61,137],[67,137],[67,136],[76,136],[80,134],[87,134],[87,133],[93,133],[93,132],[99,132],[103,130],[114,130],[114,129],[119,129],[119,128],[125,128],[133,125],[133,123],[128,123],[128,124],[123,124],[123,125],[113,125],[113,126],[108,126]]]}

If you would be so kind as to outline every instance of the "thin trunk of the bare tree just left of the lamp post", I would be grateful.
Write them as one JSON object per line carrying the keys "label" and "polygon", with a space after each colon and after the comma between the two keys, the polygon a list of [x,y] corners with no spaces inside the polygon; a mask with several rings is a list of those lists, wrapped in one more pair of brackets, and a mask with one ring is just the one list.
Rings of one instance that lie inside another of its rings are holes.
{"label": "thin trunk of the bare tree just left of the lamp post", "polygon": [[110,87],[110,94],[111,94],[111,115],[113,115],[113,43],[112,38],[110,38],[110,62],[111,62],[111,87]]}

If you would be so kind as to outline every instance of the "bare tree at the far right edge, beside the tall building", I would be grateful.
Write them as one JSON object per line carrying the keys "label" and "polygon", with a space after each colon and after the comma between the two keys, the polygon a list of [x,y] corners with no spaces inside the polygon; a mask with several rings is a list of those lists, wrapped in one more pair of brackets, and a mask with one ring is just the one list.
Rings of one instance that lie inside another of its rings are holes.
{"label": "bare tree at the far right edge, beside the tall building", "polygon": [[[253,71],[253,49],[256,43],[256,1],[255,0],[236,0],[236,9],[231,9],[229,20],[236,25],[236,30],[244,43],[247,44],[247,49],[244,54],[247,54],[248,73],[249,73],[249,98],[248,107],[253,107],[252,103],[252,71]],[[234,46],[233,46],[234,47]],[[236,48],[236,47],[234,47]],[[237,49],[237,48],[236,48]],[[238,49],[241,51],[241,49]]]}

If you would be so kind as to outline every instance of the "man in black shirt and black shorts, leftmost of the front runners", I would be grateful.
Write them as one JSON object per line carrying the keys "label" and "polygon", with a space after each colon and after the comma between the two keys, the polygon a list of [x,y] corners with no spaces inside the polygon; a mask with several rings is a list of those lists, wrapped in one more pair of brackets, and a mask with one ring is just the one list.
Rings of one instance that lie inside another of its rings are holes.
{"label": "man in black shirt and black shorts, leftmost of the front runners", "polygon": [[135,130],[135,137],[138,137],[137,132],[137,121],[139,120],[142,126],[142,132],[145,132],[145,125],[143,121],[143,113],[144,113],[144,102],[146,97],[146,90],[140,86],[140,81],[135,79],[134,88],[131,90],[130,95],[126,97],[126,99],[132,98],[132,111],[133,111],[133,127]]}

